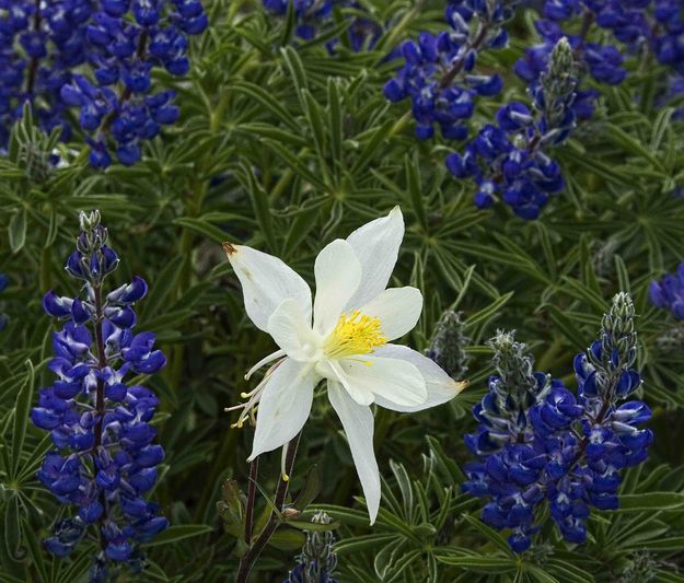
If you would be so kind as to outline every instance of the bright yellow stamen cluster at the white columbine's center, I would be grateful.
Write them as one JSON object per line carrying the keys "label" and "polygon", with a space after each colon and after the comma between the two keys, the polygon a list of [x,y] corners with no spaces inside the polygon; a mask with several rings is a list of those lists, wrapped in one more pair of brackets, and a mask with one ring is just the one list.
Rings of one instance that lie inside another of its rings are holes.
{"label": "bright yellow stamen cluster at the white columbine's center", "polygon": [[335,329],[325,341],[325,354],[334,359],[368,354],[386,342],[380,319],[366,316],[356,310],[348,316],[339,316]]}

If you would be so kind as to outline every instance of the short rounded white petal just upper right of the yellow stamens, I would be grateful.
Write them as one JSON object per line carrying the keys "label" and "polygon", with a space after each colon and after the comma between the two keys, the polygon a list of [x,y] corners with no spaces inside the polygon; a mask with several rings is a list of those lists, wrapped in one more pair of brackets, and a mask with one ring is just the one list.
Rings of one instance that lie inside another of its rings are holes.
{"label": "short rounded white petal just upper right of the yellow stamens", "polygon": [[416,288],[390,288],[360,308],[367,316],[380,319],[387,340],[401,338],[416,327],[422,311],[422,294]]}

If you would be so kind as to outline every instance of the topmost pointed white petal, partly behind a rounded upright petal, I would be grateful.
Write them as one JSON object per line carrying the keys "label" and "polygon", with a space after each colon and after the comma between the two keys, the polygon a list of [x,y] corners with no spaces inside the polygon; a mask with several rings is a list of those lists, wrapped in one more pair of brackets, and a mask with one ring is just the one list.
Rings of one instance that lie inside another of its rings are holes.
{"label": "topmost pointed white petal, partly behind a rounded upright petal", "polygon": [[349,300],[348,310],[370,302],[387,287],[403,238],[404,218],[398,207],[394,207],[386,217],[357,229],[347,237],[363,268],[361,283]]}

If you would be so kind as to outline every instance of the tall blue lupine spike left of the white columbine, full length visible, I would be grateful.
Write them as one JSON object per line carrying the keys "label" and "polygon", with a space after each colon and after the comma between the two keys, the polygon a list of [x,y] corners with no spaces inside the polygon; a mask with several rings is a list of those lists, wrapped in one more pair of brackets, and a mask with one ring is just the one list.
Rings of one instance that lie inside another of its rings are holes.
{"label": "tall blue lupine spike left of the white columbine, full length visible", "polygon": [[31,418],[50,432],[54,444],[38,479],[60,503],[76,506],[45,547],[65,557],[89,529],[95,530],[102,550],[93,558],[94,582],[107,578],[112,563],[139,570],[143,557],[138,544],[169,524],[144,498],[164,459],[150,424],[159,401],[149,388],[126,380],[153,374],[166,360],[154,349],[154,335],[132,330],[132,304],[147,284],[135,278],[106,293],[104,282],[118,256],[107,244],[97,211],[81,213],[80,223],[66,268],[83,282],[82,293],[67,298],[49,291],[43,299],[45,311],[65,324],[53,335],[55,357],[48,364],[57,380],[39,392]]}

